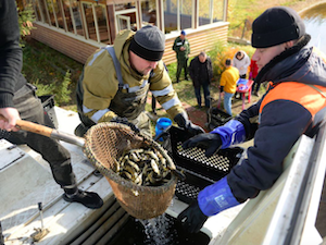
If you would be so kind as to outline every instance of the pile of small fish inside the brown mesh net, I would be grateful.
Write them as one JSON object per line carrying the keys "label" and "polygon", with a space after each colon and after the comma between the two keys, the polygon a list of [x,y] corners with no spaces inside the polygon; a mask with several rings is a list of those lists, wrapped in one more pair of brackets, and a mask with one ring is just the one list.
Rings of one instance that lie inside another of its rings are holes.
{"label": "pile of small fish inside the brown mesh net", "polygon": [[115,162],[115,172],[143,186],[159,186],[171,180],[166,159],[152,148],[124,151]]}

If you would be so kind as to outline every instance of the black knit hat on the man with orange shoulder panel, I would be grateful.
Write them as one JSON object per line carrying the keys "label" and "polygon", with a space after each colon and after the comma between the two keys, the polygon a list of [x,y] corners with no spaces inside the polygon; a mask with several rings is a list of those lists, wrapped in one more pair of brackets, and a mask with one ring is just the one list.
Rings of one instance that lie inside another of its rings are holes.
{"label": "black knit hat on the man with orange shoulder panel", "polygon": [[268,48],[305,34],[305,26],[299,14],[287,7],[267,9],[252,23],[251,45]]}

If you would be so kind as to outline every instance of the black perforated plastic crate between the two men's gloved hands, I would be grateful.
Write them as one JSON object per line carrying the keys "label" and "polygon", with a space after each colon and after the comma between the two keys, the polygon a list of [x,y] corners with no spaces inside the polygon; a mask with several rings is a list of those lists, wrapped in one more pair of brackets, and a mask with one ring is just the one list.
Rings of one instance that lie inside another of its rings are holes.
{"label": "black perforated plastic crate between the two men's gloved hands", "polygon": [[176,167],[186,175],[185,181],[178,181],[175,194],[187,204],[196,199],[198,193],[205,186],[228,174],[242,157],[243,148],[234,147],[221,149],[208,158],[201,148],[184,149],[181,147],[181,144],[190,138],[184,130],[172,126],[167,133],[168,143],[165,143],[165,148],[170,151]]}

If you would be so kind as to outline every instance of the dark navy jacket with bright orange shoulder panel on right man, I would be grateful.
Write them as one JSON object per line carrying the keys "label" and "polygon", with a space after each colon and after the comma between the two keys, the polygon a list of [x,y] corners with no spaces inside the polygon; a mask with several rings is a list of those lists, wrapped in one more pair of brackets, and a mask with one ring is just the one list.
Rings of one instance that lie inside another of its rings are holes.
{"label": "dark navy jacket with bright orange shoulder panel on right man", "polygon": [[326,59],[313,47],[296,48],[260,71],[261,82],[272,82],[272,87],[237,117],[244,125],[247,139],[254,136],[248,158],[227,176],[237,199],[255,197],[272,187],[294,143],[302,134],[314,135],[326,118]]}

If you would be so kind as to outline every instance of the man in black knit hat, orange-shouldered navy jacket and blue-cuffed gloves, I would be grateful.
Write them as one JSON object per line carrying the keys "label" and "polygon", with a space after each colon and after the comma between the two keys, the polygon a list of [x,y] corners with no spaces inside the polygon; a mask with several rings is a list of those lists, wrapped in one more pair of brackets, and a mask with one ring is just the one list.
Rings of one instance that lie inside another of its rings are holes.
{"label": "man in black knit hat, orange-shouldered navy jacket and blue-cuffed gloves", "polygon": [[308,45],[310,38],[302,20],[290,8],[267,9],[253,22],[256,81],[269,82],[269,89],[234,120],[190,138],[184,147],[200,145],[211,156],[253,136],[254,146],[248,148],[247,159],[201,191],[198,201],[179,215],[188,231],[199,231],[208,217],[271,188],[299,137],[317,133],[326,119],[326,65],[324,54]]}

